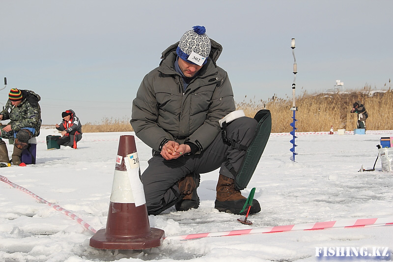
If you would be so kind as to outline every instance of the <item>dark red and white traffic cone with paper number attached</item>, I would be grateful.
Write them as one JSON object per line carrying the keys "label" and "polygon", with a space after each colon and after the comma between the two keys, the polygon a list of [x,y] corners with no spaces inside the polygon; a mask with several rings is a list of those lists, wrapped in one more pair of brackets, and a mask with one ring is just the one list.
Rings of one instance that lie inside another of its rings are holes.
{"label": "dark red and white traffic cone with paper number attached", "polygon": [[165,233],[150,228],[134,136],[120,136],[107,228],[90,238],[98,249],[148,249],[160,246]]}

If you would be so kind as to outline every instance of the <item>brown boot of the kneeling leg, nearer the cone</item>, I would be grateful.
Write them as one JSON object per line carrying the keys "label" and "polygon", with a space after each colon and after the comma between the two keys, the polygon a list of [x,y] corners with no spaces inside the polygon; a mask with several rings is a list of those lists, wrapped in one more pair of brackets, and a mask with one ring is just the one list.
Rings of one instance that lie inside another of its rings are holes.
{"label": "brown boot of the kneeling leg, nearer the cone", "polygon": [[177,211],[187,211],[199,207],[199,197],[197,195],[199,181],[199,174],[194,173],[188,174],[179,180],[179,193],[184,197],[175,204]]}

